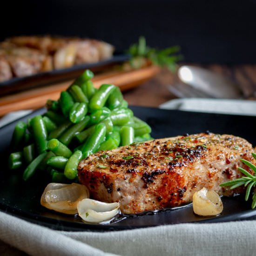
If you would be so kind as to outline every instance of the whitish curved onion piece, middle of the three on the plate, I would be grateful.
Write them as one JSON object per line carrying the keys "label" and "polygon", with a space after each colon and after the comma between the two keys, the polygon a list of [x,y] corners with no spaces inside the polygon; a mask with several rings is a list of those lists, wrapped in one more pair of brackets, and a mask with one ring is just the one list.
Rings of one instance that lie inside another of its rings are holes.
{"label": "whitish curved onion piece, middle of the three on the plate", "polygon": [[111,220],[119,213],[119,202],[100,202],[93,199],[83,199],[77,204],[79,216],[90,223],[100,223]]}

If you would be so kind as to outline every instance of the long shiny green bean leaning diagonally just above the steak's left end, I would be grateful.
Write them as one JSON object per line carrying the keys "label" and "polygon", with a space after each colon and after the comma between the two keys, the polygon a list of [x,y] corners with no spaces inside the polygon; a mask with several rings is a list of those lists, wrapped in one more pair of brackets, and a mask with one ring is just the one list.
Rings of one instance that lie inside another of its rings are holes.
{"label": "long shiny green bean leaning diagonally just above the steak's left end", "polygon": [[94,133],[89,136],[81,148],[83,158],[96,152],[97,148],[99,148],[100,144],[104,141],[105,135],[106,125],[104,123],[99,123],[95,127]]}

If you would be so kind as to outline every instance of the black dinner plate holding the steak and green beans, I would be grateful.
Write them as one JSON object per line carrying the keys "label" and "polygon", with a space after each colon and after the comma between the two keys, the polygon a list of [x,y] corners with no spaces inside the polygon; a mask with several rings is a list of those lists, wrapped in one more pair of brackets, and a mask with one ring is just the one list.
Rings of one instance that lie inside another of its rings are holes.
{"label": "black dinner plate holding the steak and green beans", "polygon": [[[255,128],[253,123],[256,117],[239,115],[220,115],[193,113],[177,110],[162,110],[158,108],[131,107],[135,115],[148,122],[152,127],[154,138],[171,137],[186,133],[194,134],[207,130],[219,134],[233,134],[241,136],[253,145],[256,145]],[[33,115],[42,114],[45,110],[39,109],[22,120]],[[34,179],[23,182],[21,173],[8,171],[7,152],[15,122],[0,128],[0,209],[3,211],[60,230],[121,230],[134,229],[164,224],[184,222],[226,222],[256,218],[256,210],[250,209],[250,202],[244,201],[244,195],[222,198],[224,210],[220,216],[202,218],[193,214],[192,206],[168,210],[157,214],[127,217],[112,224],[84,224],[76,216],[66,216],[54,213],[40,205],[40,195],[46,183]]]}

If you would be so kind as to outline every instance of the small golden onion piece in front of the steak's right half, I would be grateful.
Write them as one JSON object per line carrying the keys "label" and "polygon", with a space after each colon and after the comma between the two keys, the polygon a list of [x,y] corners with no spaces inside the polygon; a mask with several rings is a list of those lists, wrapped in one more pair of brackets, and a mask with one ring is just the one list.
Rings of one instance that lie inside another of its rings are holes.
{"label": "small golden onion piece in front of the steak's right half", "polygon": [[213,190],[202,188],[193,195],[193,210],[200,216],[216,216],[223,210],[220,196]]}

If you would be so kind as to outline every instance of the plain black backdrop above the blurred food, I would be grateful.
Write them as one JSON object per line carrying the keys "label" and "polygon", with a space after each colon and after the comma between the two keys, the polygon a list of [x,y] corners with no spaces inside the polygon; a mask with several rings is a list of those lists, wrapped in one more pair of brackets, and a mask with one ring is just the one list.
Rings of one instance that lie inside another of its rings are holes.
{"label": "plain black backdrop above the blurred food", "polygon": [[144,35],[152,47],[180,45],[184,61],[256,63],[254,0],[4,0],[0,9],[0,40],[83,36],[121,52]]}

